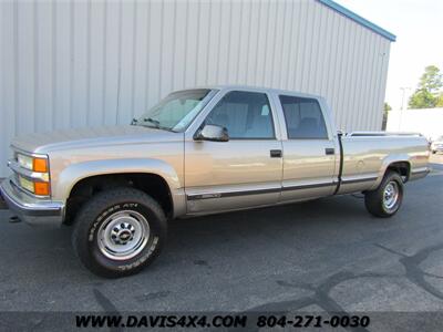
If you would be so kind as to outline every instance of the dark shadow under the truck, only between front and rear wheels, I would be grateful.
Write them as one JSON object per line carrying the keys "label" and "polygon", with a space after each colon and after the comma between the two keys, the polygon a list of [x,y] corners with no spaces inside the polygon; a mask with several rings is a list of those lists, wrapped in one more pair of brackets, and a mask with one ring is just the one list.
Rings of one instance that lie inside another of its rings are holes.
{"label": "dark shadow under the truck, only between front and rear wheels", "polygon": [[224,212],[218,215],[173,220],[169,224],[169,245],[186,235],[222,238],[254,238],[274,231],[327,229],[340,225],[351,227],[377,220],[364,209],[362,199],[354,197],[322,198],[276,207]]}

